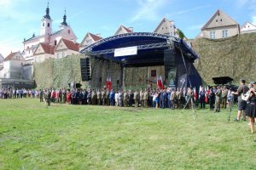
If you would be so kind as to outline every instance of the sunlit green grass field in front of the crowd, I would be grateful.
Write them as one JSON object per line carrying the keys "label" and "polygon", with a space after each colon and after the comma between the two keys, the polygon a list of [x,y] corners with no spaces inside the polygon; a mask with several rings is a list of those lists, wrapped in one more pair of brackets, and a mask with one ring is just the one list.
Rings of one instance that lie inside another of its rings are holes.
{"label": "sunlit green grass field in front of the crowd", "polygon": [[255,169],[256,138],[233,111],[0,100],[0,169]]}

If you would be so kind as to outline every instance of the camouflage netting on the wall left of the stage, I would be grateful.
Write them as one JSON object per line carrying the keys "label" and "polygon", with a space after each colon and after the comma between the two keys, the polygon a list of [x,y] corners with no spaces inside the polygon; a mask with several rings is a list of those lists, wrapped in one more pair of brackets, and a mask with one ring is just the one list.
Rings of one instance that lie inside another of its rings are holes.
{"label": "camouflage netting on the wall left of the stage", "polygon": [[87,82],[81,81],[80,58],[84,55],[71,55],[64,59],[47,59],[34,64],[34,79],[37,88],[68,88],[70,82],[80,82],[83,87]]}

